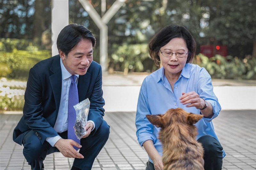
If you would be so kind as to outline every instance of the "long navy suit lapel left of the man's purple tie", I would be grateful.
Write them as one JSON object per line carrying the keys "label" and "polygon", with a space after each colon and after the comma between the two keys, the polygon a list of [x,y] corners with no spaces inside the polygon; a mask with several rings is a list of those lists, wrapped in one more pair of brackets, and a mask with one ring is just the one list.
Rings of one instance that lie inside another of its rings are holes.
{"label": "long navy suit lapel left of the man's purple tie", "polygon": [[53,73],[49,78],[50,78],[52,92],[53,92],[55,103],[56,103],[56,117],[55,117],[55,120],[56,120],[58,112],[59,112],[59,107],[60,107],[61,84],[62,84],[62,80],[61,80],[62,74],[61,74],[61,68],[60,68],[60,55],[57,55],[56,58],[53,59],[52,66],[51,66],[50,70]]}

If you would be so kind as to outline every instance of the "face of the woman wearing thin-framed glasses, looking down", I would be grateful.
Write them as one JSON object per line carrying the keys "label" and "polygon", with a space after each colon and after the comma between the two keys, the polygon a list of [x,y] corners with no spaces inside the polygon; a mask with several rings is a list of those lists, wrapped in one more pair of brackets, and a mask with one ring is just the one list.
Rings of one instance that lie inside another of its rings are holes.
{"label": "face of the woman wearing thin-framed glasses, looking down", "polygon": [[187,59],[188,54],[186,54],[184,57],[180,58],[177,57],[174,53],[177,52],[185,52],[188,53],[188,48],[186,45],[186,42],[183,38],[173,38],[171,41],[169,41],[165,46],[161,47],[160,50],[162,52],[168,51],[172,52],[171,57],[165,57],[160,51],[159,51],[159,57],[160,61],[165,69],[164,75],[167,77],[179,77],[181,70],[184,68]]}

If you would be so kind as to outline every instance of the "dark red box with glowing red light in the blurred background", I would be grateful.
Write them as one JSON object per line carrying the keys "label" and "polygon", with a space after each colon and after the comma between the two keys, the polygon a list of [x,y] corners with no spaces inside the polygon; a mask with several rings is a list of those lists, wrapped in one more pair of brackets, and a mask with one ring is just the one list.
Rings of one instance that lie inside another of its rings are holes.
{"label": "dark red box with glowing red light in the blurred background", "polygon": [[214,48],[216,50],[216,54],[219,54],[219,55],[222,55],[222,56],[227,56],[228,55],[227,46],[213,47],[213,45],[201,45],[200,46],[200,53],[207,56],[208,58],[211,58],[214,55],[213,54]]}

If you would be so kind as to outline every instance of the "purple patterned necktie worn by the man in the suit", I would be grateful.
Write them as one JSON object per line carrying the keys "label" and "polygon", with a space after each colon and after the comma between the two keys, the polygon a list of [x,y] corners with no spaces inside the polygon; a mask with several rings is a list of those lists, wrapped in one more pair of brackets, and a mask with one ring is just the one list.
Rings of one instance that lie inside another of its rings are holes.
{"label": "purple patterned necktie worn by the man in the suit", "polygon": [[[72,139],[78,144],[80,144],[80,140],[77,139],[74,128],[73,128],[76,122],[76,110],[74,106],[79,101],[78,91],[76,86],[76,76],[72,75],[70,79],[71,79],[71,84],[68,92],[68,139]],[[76,151],[79,149],[76,146],[73,146],[73,147],[76,149]]]}

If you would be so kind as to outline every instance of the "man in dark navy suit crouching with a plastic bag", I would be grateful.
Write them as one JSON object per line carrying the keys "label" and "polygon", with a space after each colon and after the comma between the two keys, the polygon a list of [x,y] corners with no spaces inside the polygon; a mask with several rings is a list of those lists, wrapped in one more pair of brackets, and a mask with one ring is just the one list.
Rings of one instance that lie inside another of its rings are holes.
{"label": "man in dark navy suit crouching with a plastic bag", "polygon": [[[94,159],[107,142],[109,126],[103,120],[102,70],[98,63],[92,61],[95,44],[90,30],[70,24],[58,36],[59,55],[30,69],[23,116],[13,131],[13,140],[23,144],[23,155],[31,169],[44,169],[46,155],[53,152],[75,158],[71,169],[91,169]],[[72,75],[76,76],[79,102],[86,98],[91,102],[84,127],[86,134],[80,144],[69,139],[67,132]],[[79,152],[73,146],[80,148]]]}

